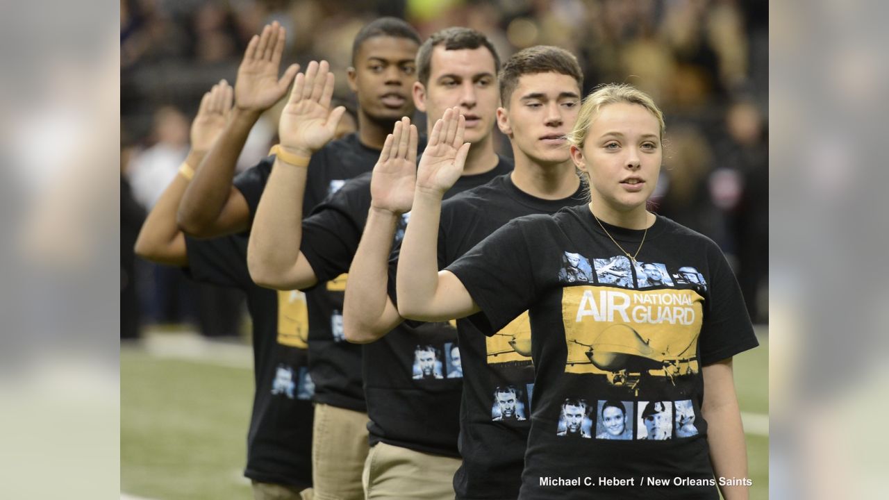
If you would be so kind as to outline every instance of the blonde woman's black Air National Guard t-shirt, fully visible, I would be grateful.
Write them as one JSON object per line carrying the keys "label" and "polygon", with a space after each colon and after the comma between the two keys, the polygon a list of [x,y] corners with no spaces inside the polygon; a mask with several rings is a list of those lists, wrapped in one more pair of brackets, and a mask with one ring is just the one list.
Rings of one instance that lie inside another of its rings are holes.
{"label": "blonde woman's black Air National Guard t-shirt, fully visible", "polygon": [[[624,248],[642,240],[605,228]],[[529,311],[536,377],[520,498],[718,498],[701,367],[757,339],[715,243],[658,217],[634,266],[576,206],[510,222],[447,269],[483,310],[471,320],[486,335]],[[640,476],[694,482],[645,487]],[[573,478],[581,485],[550,486]]]}

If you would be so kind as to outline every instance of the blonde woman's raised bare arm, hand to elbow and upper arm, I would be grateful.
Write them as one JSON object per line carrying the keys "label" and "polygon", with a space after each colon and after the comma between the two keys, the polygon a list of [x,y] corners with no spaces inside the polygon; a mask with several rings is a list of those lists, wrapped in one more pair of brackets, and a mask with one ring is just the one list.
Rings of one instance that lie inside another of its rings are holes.
{"label": "blonde woman's raised bare arm, hand to elbow and upper arm", "polygon": [[417,167],[411,223],[404,232],[398,258],[398,311],[422,321],[458,319],[478,311],[460,279],[438,272],[438,222],[442,198],[463,173],[469,142],[463,143],[466,118],[460,109],[445,111],[429,133]]}

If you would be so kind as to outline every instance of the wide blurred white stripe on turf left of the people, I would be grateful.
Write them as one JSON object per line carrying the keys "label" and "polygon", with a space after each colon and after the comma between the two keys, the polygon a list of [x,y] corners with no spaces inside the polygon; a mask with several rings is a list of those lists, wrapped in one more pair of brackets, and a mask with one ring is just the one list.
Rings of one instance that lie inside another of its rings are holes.
{"label": "wide blurred white stripe on turf left of the people", "polygon": [[253,368],[248,345],[211,341],[197,334],[146,335],[142,345],[149,355],[163,359],[185,359],[220,367]]}

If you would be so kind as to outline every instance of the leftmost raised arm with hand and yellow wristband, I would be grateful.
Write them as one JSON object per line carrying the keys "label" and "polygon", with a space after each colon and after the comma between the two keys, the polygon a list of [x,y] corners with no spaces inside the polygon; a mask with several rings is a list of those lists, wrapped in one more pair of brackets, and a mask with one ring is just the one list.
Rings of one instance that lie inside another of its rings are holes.
{"label": "leftmost raised arm with hand and yellow wristband", "polygon": [[194,167],[220,136],[231,112],[232,88],[225,80],[204,93],[195,121],[191,124],[191,150],[164,194],[157,200],[136,239],[136,254],[148,261],[173,266],[188,265],[185,237],[176,225],[176,210]]}

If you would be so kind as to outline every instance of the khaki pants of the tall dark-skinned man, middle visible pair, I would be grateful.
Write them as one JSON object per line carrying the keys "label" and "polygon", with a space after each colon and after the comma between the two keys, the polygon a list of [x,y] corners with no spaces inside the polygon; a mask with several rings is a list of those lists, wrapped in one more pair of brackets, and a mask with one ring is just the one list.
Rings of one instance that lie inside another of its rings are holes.
{"label": "khaki pants of the tall dark-skinned man, middle visible pair", "polygon": [[366,413],[316,403],[312,430],[314,500],[363,500],[361,473],[367,451]]}

